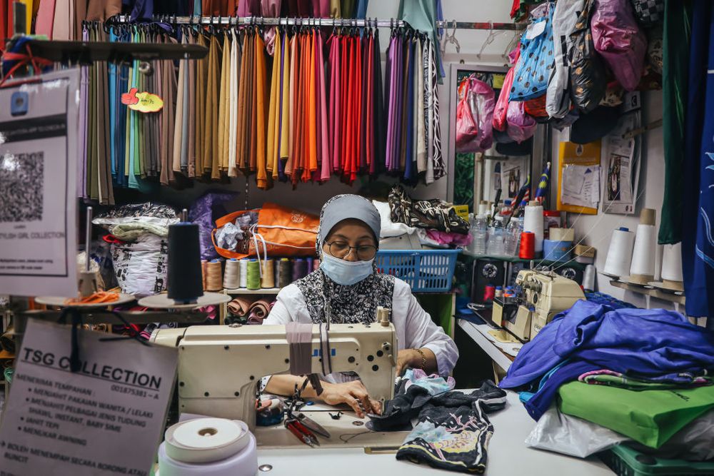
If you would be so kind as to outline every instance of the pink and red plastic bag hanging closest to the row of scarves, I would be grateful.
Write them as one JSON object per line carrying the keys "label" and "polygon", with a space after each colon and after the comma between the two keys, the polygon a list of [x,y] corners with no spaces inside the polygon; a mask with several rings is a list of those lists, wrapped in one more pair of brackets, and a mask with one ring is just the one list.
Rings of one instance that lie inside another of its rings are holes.
{"label": "pink and red plastic bag hanging closest to the row of scarves", "polygon": [[487,83],[469,76],[459,85],[456,106],[456,152],[483,152],[493,145],[496,93]]}

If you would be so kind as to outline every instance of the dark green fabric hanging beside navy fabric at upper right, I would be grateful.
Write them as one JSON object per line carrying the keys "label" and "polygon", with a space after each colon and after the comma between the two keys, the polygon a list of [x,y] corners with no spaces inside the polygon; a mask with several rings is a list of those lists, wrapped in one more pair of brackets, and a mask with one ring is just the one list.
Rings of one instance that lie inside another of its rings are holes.
{"label": "dark green fabric hanging beside navy fabric at upper right", "polygon": [[691,0],[665,0],[662,71],[665,188],[658,235],[660,244],[674,244],[682,240],[682,151],[691,19]]}

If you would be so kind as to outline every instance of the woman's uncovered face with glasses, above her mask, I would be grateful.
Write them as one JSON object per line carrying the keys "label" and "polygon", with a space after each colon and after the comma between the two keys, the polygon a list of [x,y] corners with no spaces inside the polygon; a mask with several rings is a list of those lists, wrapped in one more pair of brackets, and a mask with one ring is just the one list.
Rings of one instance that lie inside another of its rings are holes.
{"label": "woman's uncovered face with glasses, above her mask", "polygon": [[[348,218],[333,226],[322,245],[322,251],[346,261],[368,261],[374,258],[376,245],[371,228],[363,221]],[[346,249],[348,246],[351,248]],[[357,247],[360,247],[359,255]],[[345,252],[347,254],[343,255]]]}

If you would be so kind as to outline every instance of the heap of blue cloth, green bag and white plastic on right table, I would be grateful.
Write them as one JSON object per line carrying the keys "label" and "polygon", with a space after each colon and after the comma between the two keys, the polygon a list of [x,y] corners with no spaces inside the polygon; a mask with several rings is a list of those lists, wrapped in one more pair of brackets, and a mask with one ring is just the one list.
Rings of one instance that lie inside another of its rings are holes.
{"label": "heap of blue cloth, green bag and white plastic on right table", "polygon": [[586,457],[618,444],[714,458],[714,335],[679,313],[578,301],[501,382],[538,420],[527,443]]}

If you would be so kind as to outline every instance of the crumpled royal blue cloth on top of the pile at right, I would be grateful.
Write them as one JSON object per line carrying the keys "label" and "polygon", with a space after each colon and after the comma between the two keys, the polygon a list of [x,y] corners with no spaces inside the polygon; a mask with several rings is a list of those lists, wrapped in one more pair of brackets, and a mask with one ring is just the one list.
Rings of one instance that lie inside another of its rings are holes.
{"label": "crumpled royal blue cloth on top of the pile at right", "polygon": [[502,388],[540,379],[564,360],[626,375],[714,369],[714,335],[663,309],[618,309],[579,300],[523,345]]}

